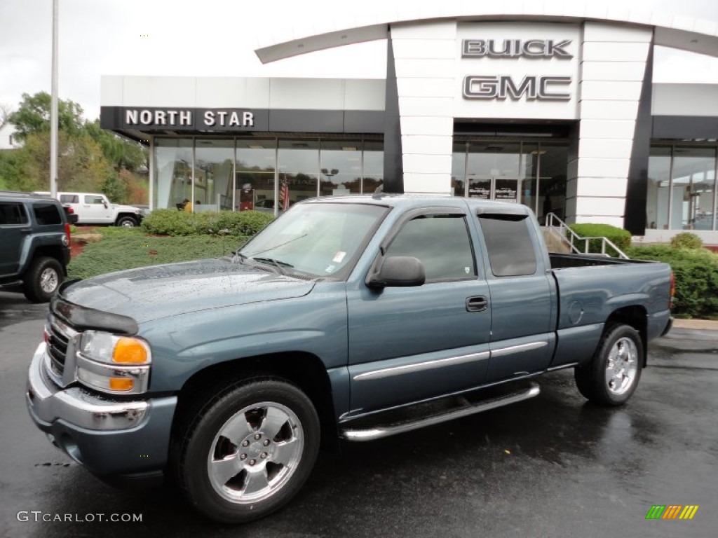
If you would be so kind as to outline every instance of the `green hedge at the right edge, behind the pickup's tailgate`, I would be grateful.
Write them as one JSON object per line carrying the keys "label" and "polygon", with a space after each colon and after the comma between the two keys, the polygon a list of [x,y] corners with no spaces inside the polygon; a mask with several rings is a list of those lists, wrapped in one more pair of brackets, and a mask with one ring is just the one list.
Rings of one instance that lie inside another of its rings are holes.
{"label": "green hedge at the right edge, behind the pickup's tailgate", "polygon": [[637,260],[658,260],[671,265],[676,276],[675,316],[718,318],[718,255],[709,250],[668,245],[632,247],[627,254]]}

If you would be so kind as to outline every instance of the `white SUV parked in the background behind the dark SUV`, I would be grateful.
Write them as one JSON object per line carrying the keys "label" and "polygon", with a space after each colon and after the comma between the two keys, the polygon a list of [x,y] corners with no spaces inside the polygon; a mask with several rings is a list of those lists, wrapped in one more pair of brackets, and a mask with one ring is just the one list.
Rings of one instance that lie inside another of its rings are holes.
{"label": "white SUV parked in the background behind the dark SUV", "polygon": [[116,225],[131,228],[138,226],[144,217],[138,207],[111,204],[101,193],[58,192],[57,199],[73,208],[78,215],[78,225]]}

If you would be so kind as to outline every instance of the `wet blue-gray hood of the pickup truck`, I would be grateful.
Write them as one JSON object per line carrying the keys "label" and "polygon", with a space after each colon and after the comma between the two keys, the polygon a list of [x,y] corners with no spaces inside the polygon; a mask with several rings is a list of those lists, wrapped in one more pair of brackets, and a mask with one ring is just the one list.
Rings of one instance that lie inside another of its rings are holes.
{"label": "wet blue-gray hood of the pickup truck", "polygon": [[182,313],[307,295],[314,281],[279,275],[228,258],[154,265],[108,273],[62,288],[78,306],[137,323]]}

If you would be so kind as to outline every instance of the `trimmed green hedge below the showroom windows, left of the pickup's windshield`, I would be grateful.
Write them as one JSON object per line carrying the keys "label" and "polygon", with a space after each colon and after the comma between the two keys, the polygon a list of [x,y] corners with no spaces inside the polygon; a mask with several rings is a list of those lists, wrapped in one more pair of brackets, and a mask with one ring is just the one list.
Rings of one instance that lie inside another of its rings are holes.
{"label": "trimmed green hedge below the showroom windows, left of the pickup's windshield", "polygon": [[155,209],[142,221],[142,230],[154,235],[254,235],[273,218],[258,211],[189,213]]}

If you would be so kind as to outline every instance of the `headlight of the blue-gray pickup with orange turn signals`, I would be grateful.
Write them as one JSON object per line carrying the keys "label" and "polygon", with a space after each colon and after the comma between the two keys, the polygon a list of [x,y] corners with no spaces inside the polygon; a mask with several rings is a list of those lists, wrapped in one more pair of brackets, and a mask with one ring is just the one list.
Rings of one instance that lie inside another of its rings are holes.
{"label": "headlight of the blue-gray pickup with orange turn signals", "polygon": [[149,385],[152,354],[146,341],[103,331],[83,331],[77,379],[103,392],[138,394]]}

